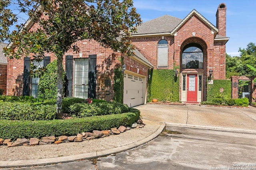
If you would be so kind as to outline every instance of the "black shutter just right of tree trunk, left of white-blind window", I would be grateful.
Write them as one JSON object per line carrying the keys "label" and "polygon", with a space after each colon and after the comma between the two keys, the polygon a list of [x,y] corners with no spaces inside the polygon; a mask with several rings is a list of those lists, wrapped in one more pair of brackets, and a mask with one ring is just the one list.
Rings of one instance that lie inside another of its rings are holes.
{"label": "black shutter just right of tree trunk, left of white-blind window", "polygon": [[73,56],[66,56],[66,96],[72,97]]}

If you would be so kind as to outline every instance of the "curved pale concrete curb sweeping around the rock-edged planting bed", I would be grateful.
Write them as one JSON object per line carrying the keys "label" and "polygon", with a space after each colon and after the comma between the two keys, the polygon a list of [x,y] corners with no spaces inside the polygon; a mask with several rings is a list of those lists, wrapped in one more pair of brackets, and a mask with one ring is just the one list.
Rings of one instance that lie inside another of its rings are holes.
{"label": "curved pale concrete curb sweeping around the rock-edged planting bed", "polygon": [[11,168],[11,167],[24,167],[24,166],[40,166],[40,165],[48,165],[48,164],[58,164],[58,163],[65,163],[65,162],[73,162],[76,160],[81,159],[91,159],[100,156],[106,156],[109,154],[114,154],[118,152],[123,152],[125,150],[133,149],[135,147],[144,145],[149,141],[155,139],[164,129],[165,123],[161,123],[160,127],[148,137],[128,144],[122,147],[101,150],[96,152],[90,153],[83,153],[83,154],[76,154],[76,155],[69,155],[69,156],[60,156],[60,157],[53,157],[53,158],[42,158],[42,159],[31,159],[31,160],[0,160],[0,168]]}

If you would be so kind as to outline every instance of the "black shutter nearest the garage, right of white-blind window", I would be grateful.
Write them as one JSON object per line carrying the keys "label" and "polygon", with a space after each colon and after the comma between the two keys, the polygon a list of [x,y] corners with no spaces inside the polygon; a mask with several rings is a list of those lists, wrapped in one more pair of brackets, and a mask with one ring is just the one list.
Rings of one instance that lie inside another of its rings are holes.
{"label": "black shutter nearest the garage, right of white-blind window", "polygon": [[96,55],[89,55],[88,98],[96,98]]}

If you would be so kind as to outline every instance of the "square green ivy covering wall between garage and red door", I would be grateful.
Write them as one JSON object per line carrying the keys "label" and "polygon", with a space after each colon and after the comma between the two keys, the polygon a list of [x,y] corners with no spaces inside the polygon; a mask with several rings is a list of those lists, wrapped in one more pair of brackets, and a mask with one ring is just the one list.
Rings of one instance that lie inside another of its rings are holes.
{"label": "square green ivy covering wall between garage and red door", "polygon": [[151,102],[153,98],[157,98],[158,101],[168,100],[170,102],[179,101],[179,76],[175,77],[174,70],[149,70],[151,75],[148,81],[148,102]]}

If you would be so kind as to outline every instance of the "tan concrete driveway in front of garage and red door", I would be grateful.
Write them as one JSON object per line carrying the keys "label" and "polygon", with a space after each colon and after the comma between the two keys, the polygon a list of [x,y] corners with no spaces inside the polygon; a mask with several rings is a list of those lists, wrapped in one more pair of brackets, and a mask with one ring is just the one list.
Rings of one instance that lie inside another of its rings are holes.
{"label": "tan concrete driveway in front of garage and red door", "polygon": [[233,129],[256,130],[256,108],[201,107],[146,104],[136,107],[142,119]]}

